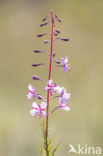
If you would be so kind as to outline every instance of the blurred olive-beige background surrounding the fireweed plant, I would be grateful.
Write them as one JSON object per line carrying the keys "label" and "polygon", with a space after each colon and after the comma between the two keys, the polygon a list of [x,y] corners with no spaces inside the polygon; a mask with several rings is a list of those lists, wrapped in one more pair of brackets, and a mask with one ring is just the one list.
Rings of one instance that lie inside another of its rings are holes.
{"label": "blurred olive-beige background surrounding the fireweed plant", "polygon": [[[27,87],[32,84],[44,93],[44,84],[32,80],[38,75],[47,80],[48,69],[32,63],[48,62],[48,56],[34,49],[50,45],[36,35],[49,31],[39,27],[53,8],[63,21],[56,22],[62,37],[55,41],[56,58],[68,56],[73,64],[66,75],[55,69],[52,79],[67,88],[72,97],[70,112],[55,112],[49,118],[50,138],[58,136],[59,156],[68,156],[69,144],[75,147],[103,147],[103,0],[0,0],[0,155],[39,156],[41,121],[30,116]],[[46,95],[46,94],[45,94]],[[51,105],[54,106],[57,101]]]}

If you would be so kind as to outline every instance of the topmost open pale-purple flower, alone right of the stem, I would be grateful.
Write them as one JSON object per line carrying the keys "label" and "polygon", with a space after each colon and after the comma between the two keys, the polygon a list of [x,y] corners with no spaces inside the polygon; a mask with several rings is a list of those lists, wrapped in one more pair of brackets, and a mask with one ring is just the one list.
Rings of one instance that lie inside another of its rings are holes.
{"label": "topmost open pale-purple flower, alone right of the stem", "polygon": [[68,73],[70,71],[70,67],[67,64],[68,62],[68,57],[66,56],[65,59],[62,57],[61,58],[61,64],[63,67],[63,72]]}

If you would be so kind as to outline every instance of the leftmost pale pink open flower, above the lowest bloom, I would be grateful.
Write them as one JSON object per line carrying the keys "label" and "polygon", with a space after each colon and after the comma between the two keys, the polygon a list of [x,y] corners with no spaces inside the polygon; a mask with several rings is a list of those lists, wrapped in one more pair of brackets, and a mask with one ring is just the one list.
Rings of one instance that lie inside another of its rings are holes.
{"label": "leftmost pale pink open flower, above the lowest bloom", "polygon": [[27,94],[27,98],[28,99],[32,99],[32,98],[36,98],[37,94],[36,94],[36,88],[34,88],[31,84],[28,86],[28,94]]}

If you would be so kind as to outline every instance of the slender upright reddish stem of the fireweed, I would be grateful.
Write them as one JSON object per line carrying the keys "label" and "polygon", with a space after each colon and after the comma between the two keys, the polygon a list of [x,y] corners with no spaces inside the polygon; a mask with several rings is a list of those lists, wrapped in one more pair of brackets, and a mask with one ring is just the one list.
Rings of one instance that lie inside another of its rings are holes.
{"label": "slender upright reddish stem of the fireweed", "polygon": [[[50,48],[50,63],[49,63],[49,75],[48,75],[48,81],[51,79],[51,70],[52,70],[53,26],[54,26],[53,11],[51,10],[50,13],[51,13],[51,48]],[[47,156],[48,156],[49,95],[50,95],[50,90],[48,90],[48,92],[47,92],[47,117],[46,117],[46,148],[47,148]]]}

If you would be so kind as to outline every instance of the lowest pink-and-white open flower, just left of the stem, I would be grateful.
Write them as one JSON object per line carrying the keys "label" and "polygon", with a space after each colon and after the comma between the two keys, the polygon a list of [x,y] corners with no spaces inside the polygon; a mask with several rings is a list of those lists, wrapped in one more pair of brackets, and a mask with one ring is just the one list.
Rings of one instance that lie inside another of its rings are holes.
{"label": "lowest pink-and-white open flower, just left of the stem", "polygon": [[46,107],[47,107],[46,102],[42,102],[41,105],[39,105],[34,101],[32,103],[33,109],[30,111],[30,114],[35,117],[37,116],[37,114],[39,114],[39,119],[41,119],[43,113],[43,115],[46,117],[46,111],[45,111]]}

